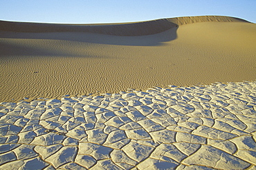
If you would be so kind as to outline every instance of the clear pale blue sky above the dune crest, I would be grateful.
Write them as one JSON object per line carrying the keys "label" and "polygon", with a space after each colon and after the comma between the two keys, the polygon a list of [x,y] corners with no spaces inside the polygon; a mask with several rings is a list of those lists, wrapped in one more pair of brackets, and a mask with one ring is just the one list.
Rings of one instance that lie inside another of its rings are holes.
{"label": "clear pale blue sky above the dune crest", "polygon": [[256,23],[256,0],[0,0],[0,20],[120,23],[224,15]]}

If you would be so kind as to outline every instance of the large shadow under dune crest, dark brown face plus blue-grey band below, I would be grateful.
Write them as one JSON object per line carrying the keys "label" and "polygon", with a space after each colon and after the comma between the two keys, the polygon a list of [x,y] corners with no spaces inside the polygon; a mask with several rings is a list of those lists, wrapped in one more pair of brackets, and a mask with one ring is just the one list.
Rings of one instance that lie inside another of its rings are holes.
{"label": "large shadow under dune crest, dark brown face plus blue-grey band below", "polygon": [[71,25],[0,21],[0,38],[48,39],[108,45],[155,46],[176,39],[179,25],[167,19],[138,23]]}

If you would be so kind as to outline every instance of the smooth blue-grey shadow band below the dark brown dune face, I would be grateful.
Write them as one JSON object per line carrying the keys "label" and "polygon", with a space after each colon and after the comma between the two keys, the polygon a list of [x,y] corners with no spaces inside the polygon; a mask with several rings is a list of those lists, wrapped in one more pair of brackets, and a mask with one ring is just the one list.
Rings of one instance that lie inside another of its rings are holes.
{"label": "smooth blue-grey shadow band below the dark brown dune face", "polygon": [[157,34],[142,36],[118,36],[89,32],[0,32],[0,38],[62,40],[107,45],[158,46],[176,39],[177,29],[178,26]]}

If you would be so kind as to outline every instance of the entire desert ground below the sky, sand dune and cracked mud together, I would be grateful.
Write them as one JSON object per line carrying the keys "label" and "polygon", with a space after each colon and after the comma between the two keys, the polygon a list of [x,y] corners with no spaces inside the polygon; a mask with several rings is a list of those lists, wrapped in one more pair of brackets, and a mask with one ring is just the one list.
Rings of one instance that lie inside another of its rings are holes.
{"label": "entire desert ground below the sky, sand dune and cracked mud together", "polygon": [[256,169],[255,42],[232,17],[0,21],[0,169]]}

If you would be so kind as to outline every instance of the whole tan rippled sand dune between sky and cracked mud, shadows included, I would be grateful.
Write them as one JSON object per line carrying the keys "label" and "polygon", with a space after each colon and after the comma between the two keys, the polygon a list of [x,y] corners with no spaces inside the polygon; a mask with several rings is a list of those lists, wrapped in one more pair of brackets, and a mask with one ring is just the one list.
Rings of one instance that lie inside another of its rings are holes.
{"label": "whole tan rippled sand dune between sky and cracked mud, shadows included", "polygon": [[0,21],[0,101],[255,81],[255,42],[255,23],[231,17],[113,25]]}

